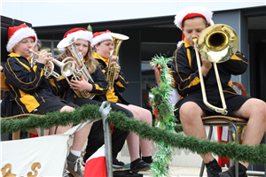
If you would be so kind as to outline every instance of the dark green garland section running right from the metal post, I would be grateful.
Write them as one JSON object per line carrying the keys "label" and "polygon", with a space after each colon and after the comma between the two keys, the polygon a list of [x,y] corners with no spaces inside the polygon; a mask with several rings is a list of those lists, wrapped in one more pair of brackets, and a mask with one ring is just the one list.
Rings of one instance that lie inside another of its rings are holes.
{"label": "dark green garland section running right from the metal post", "polygon": [[128,119],[121,112],[110,112],[107,119],[112,122],[114,127],[133,131],[143,138],[153,140],[153,142],[164,142],[173,148],[187,149],[199,154],[212,152],[221,157],[234,158],[254,165],[266,165],[266,144],[248,146],[233,142],[217,143],[210,140],[199,140],[195,136],[184,135],[183,133],[176,134],[159,127],[150,127],[145,122]]}

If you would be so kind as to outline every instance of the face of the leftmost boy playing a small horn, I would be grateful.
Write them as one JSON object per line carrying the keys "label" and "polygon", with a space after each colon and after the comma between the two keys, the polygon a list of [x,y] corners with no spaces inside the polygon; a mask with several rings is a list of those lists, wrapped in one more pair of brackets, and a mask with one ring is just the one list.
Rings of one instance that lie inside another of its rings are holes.
{"label": "face of the leftmost boy playing a small horn", "polygon": [[35,41],[32,37],[27,37],[22,39],[19,43],[17,43],[13,50],[15,53],[20,54],[20,56],[24,58],[28,58],[32,55],[32,52],[29,50],[33,50],[35,47]]}

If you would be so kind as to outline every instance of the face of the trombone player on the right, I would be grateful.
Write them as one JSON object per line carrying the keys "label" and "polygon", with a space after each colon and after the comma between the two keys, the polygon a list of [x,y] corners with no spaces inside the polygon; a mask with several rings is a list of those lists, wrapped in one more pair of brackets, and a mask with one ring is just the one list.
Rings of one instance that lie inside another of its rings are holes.
{"label": "face of the trombone player on the right", "polygon": [[199,39],[200,34],[206,29],[206,24],[204,23],[204,19],[195,18],[195,19],[185,19],[184,27],[182,27],[184,37],[190,45],[194,45],[192,40],[194,38]]}

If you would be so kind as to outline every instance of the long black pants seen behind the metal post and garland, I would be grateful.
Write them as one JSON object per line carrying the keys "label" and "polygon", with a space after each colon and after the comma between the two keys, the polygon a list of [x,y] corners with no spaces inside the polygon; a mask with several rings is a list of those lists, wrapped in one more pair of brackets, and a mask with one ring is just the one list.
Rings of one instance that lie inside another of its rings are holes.
{"label": "long black pants seen behind the metal post and garland", "polygon": [[[82,106],[83,104],[98,104],[101,105],[101,102],[85,99],[85,98],[74,98],[74,104]],[[112,111],[124,112],[130,118],[133,118],[133,113],[129,110],[111,103]],[[123,131],[119,128],[113,127],[112,135],[112,151],[113,158],[117,158],[118,153],[121,151],[129,131]],[[88,136],[88,143],[86,147],[86,154],[84,155],[83,161],[86,162],[90,156],[96,152],[103,144],[105,143],[104,129],[103,129],[103,120],[98,120],[93,123],[90,129],[90,135]]]}

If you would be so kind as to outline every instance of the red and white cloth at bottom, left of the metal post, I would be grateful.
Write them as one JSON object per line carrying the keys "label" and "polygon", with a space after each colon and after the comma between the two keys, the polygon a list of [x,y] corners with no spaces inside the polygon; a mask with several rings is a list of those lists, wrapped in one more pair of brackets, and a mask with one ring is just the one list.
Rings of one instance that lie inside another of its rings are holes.
{"label": "red and white cloth at bottom, left of the metal post", "polygon": [[106,150],[102,145],[88,160],[84,169],[84,177],[106,177]]}

